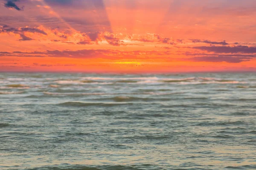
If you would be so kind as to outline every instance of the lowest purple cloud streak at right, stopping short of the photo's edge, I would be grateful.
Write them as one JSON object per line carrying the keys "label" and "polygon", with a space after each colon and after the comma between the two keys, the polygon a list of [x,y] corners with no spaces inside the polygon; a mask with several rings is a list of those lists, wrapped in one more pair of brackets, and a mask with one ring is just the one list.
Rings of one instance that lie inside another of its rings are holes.
{"label": "lowest purple cloud streak at right, stopping short of the photo's edge", "polygon": [[239,57],[229,57],[229,56],[218,56],[218,57],[192,57],[189,58],[190,61],[194,62],[229,62],[229,63],[239,63],[244,61],[250,61],[248,58]]}

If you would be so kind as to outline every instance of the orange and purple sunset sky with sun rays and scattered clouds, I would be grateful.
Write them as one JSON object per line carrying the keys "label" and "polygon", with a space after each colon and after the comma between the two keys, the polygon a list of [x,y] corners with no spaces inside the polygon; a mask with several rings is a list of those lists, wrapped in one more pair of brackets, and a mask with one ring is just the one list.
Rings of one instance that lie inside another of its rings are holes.
{"label": "orange and purple sunset sky with sun rays and scattered clouds", "polygon": [[0,0],[0,71],[256,71],[256,0]]}

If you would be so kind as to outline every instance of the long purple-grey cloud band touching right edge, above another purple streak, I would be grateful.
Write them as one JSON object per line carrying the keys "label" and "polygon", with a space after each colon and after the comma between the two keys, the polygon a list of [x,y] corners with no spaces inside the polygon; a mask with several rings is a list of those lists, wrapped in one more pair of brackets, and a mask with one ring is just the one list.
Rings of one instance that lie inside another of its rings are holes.
{"label": "long purple-grey cloud band touching right edge, above another purple streak", "polygon": [[253,54],[256,53],[256,47],[249,47],[245,45],[237,46],[201,46],[201,47],[192,47],[194,49],[215,52],[215,53],[244,53],[244,54]]}

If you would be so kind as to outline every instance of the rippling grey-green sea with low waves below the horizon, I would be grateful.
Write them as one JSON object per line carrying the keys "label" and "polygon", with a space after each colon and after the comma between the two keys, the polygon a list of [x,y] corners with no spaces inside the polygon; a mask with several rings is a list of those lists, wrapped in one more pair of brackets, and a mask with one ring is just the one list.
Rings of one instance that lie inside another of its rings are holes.
{"label": "rippling grey-green sea with low waves below the horizon", "polygon": [[256,73],[0,73],[1,170],[256,169]]}

